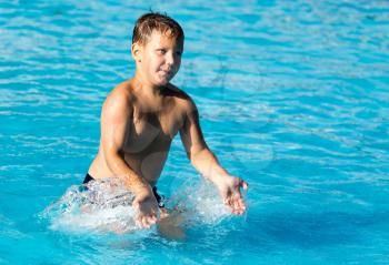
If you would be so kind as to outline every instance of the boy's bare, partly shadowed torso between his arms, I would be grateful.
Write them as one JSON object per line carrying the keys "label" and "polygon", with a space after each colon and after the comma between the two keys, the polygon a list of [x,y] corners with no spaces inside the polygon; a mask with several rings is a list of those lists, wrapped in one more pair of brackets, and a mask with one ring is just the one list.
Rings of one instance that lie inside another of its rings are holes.
{"label": "boy's bare, partly shadowed torso between his arms", "polygon": [[[187,95],[169,85],[162,93],[158,111],[146,110],[142,100],[138,96],[133,101],[121,151],[131,170],[153,186],[168,157],[171,141],[183,125]],[[103,155],[100,146],[89,169],[89,174],[96,179],[113,175]]]}

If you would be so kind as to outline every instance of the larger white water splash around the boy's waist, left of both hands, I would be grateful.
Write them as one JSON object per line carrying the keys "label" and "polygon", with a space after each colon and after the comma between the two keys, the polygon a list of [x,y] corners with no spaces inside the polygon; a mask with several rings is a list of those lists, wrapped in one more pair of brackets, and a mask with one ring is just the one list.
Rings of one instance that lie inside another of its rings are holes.
{"label": "larger white water splash around the boy's waist, left of both hands", "polygon": [[52,230],[128,233],[138,230],[132,201],[133,194],[119,179],[96,180],[69,187],[43,211],[42,217]]}

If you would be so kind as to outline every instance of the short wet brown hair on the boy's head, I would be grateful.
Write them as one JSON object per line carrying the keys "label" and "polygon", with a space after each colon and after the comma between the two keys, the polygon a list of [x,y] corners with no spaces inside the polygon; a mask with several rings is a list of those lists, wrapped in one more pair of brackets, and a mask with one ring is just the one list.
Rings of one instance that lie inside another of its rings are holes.
{"label": "short wet brown hair on the boy's head", "polygon": [[166,13],[149,12],[142,14],[133,27],[132,43],[146,44],[153,30],[169,33],[169,37],[183,41],[181,26]]}

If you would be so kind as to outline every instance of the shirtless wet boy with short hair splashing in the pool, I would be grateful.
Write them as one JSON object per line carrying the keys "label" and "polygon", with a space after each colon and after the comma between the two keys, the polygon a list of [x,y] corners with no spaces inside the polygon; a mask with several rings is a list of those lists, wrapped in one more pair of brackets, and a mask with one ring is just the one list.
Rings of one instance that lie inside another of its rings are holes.
{"label": "shirtless wet boy with short hair splashing in the pool", "polygon": [[167,16],[138,19],[131,45],[136,73],[102,105],[99,152],[84,180],[120,177],[134,194],[137,223],[143,228],[157,222],[156,184],[178,132],[192,165],[217,186],[231,212],[246,211],[240,188],[248,184],[220,166],[202,136],[194,102],[169,82],[180,68],[183,39],[181,27]]}

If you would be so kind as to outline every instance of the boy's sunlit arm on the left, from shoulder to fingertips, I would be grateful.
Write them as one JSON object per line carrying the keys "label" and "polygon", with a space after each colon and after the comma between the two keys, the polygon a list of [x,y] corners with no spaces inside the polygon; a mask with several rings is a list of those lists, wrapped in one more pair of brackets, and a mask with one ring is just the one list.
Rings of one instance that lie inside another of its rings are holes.
{"label": "boy's sunlit arm on the left, from shoulder to fingertips", "polygon": [[149,227],[157,221],[156,198],[150,185],[127,164],[122,152],[133,111],[129,101],[126,94],[112,92],[104,102],[101,112],[101,151],[110,171],[134,193],[132,205],[140,211],[138,224]]}

